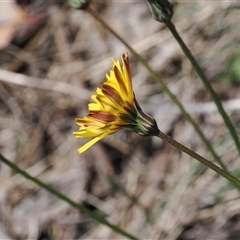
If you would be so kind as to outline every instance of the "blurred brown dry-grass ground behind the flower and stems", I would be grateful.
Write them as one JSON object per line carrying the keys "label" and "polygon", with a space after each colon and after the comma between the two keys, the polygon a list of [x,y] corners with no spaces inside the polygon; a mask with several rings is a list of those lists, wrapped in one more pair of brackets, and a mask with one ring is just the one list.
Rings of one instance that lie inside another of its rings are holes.
{"label": "blurred brown dry-grass ground behind the flower and stems", "polygon": [[[240,158],[188,59],[145,1],[90,7],[141,54],[198,123],[225,165]],[[240,4],[179,1],[173,22],[240,134]],[[128,49],[91,14],[56,1],[0,2],[0,151],[31,175],[141,239],[240,239],[239,192],[160,139],[120,131],[84,154],[76,117]],[[144,111],[213,159],[192,126],[130,54]],[[124,239],[0,165],[1,239]]]}

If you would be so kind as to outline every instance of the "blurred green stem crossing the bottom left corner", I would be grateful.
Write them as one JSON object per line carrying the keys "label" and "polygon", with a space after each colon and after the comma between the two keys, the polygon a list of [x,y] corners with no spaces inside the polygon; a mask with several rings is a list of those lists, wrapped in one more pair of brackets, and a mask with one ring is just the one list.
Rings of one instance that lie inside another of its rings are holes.
{"label": "blurred green stem crossing the bottom left corner", "polygon": [[15,172],[19,173],[20,175],[22,175],[23,177],[25,177],[26,179],[36,183],[38,186],[40,186],[41,188],[45,189],[46,191],[48,191],[49,193],[51,193],[52,195],[55,195],[57,198],[63,200],[64,202],[67,202],[69,205],[71,205],[72,207],[78,209],[79,211],[81,211],[82,213],[88,215],[89,217],[91,217],[92,219],[94,219],[95,221],[108,226],[109,228],[111,228],[113,231],[121,234],[124,237],[127,237],[129,239],[132,240],[138,240],[137,237],[127,233],[126,231],[124,231],[123,229],[119,228],[116,225],[111,224],[110,222],[108,222],[105,218],[97,215],[96,213],[88,210],[87,208],[85,208],[83,205],[78,204],[76,202],[74,202],[73,200],[71,200],[70,198],[68,198],[66,195],[62,194],[61,192],[57,191],[56,189],[54,189],[53,187],[50,187],[49,185],[47,185],[46,183],[43,183],[42,181],[40,181],[38,178],[35,178],[31,175],[29,175],[27,172],[25,172],[24,170],[22,170],[21,168],[19,168],[16,164],[10,162],[9,160],[7,160],[5,157],[2,156],[2,154],[0,154],[0,161],[5,163],[6,165],[8,165],[12,170],[14,170]]}

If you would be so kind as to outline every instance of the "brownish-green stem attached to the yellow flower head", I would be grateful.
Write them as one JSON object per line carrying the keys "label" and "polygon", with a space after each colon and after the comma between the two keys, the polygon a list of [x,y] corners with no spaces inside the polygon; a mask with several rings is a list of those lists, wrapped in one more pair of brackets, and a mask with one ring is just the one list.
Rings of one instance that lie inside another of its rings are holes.
{"label": "brownish-green stem attached to the yellow flower head", "polygon": [[208,161],[206,158],[200,156],[199,154],[195,153],[191,149],[185,147],[184,145],[182,145],[181,143],[177,142],[176,140],[174,140],[170,136],[166,135],[165,133],[159,131],[157,136],[159,138],[161,138],[162,140],[168,142],[172,146],[178,148],[182,152],[185,152],[187,155],[195,158],[196,160],[198,160],[200,163],[204,164],[205,166],[211,168],[213,171],[215,171],[216,173],[220,174],[224,178],[228,179],[231,183],[233,183],[238,188],[238,190],[240,190],[240,180],[238,180],[237,178],[235,178],[234,176],[232,176],[231,174],[229,174],[225,170],[219,168],[218,166],[216,166],[212,162]]}

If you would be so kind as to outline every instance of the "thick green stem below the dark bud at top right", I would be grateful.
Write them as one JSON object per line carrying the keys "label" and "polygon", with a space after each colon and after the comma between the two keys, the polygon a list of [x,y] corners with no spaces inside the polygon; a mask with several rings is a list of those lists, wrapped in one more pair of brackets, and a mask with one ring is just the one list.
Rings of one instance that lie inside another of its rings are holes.
{"label": "thick green stem below the dark bud at top right", "polygon": [[164,21],[164,23],[166,24],[166,26],[168,27],[168,29],[171,31],[172,35],[174,36],[174,38],[177,40],[177,42],[179,43],[179,45],[181,46],[183,52],[185,53],[185,55],[187,56],[187,58],[190,60],[190,62],[192,63],[196,73],[198,74],[198,76],[201,78],[204,87],[206,88],[206,90],[209,92],[209,94],[211,95],[213,101],[215,102],[219,113],[222,115],[222,118],[224,120],[225,125],[227,126],[234,142],[236,145],[236,148],[240,154],[240,141],[237,135],[237,132],[233,126],[233,124],[231,123],[228,115],[226,114],[223,106],[222,106],[222,102],[219,99],[218,95],[215,93],[215,91],[212,88],[211,83],[208,81],[207,77],[205,76],[204,72],[202,71],[201,67],[199,66],[199,64],[197,63],[196,59],[193,57],[191,51],[189,50],[189,48],[186,46],[186,44],[184,43],[184,41],[182,40],[181,36],[178,34],[174,24],[171,22],[171,20],[166,19]]}

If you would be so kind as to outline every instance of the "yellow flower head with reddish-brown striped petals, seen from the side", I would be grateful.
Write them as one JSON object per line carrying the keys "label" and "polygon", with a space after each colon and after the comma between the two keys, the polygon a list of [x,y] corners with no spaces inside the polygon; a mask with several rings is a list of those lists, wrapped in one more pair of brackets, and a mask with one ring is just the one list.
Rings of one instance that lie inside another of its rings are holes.
{"label": "yellow flower head with reddish-brown striped petals, seen from the side", "polygon": [[122,55],[122,67],[119,61],[112,60],[113,68],[106,75],[107,80],[102,88],[97,88],[92,96],[94,103],[88,105],[88,115],[75,120],[80,128],[79,132],[73,133],[74,136],[92,138],[78,149],[79,153],[121,129],[132,130],[143,136],[158,135],[156,121],[144,113],[136,101],[128,54]]}

